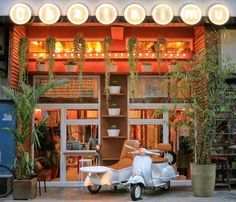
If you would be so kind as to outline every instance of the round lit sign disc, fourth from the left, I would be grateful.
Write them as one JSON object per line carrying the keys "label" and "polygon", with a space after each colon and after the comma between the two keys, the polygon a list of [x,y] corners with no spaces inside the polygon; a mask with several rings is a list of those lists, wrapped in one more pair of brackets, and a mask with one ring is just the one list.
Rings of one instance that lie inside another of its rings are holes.
{"label": "round lit sign disc, fourth from the left", "polygon": [[101,4],[97,7],[95,15],[100,23],[108,25],[116,20],[117,10],[112,4]]}

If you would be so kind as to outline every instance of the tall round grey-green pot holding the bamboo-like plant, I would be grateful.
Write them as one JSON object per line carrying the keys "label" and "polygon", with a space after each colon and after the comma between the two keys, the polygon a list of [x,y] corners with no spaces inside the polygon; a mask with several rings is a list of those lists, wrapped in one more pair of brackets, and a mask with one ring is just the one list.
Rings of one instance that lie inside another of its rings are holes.
{"label": "tall round grey-green pot holding the bamboo-like plant", "polygon": [[214,193],[216,179],[216,164],[190,164],[193,195],[210,197]]}

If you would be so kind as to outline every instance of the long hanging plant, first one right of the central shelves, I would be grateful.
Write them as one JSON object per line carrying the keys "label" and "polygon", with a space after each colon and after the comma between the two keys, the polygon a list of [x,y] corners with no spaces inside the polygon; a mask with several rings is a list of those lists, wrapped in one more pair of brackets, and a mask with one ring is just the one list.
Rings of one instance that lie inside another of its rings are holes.
{"label": "long hanging plant, first one right of the central shelves", "polygon": [[138,60],[139,60],[138,41],[136,37],[132,37],[129,39],[128,54],[129,54],[130,80],[131,80],[131,97],[135,98],[136,81],[138,78]]}

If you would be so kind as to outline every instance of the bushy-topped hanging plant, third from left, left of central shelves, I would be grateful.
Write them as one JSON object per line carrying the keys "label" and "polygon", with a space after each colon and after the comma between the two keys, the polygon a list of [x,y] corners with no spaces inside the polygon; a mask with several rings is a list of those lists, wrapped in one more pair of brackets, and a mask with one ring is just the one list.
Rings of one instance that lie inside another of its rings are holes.
{"label": "bushy-topped hanging plant, third from left, left of central shelves", "polygon": [[79,93],[80,98],[82,98],[82,90],[83,90],[83,69],[85,63],[85,40],[82,33],[78,33],[74,37],[73,41],[74,46],[74,60],[78,61],[78,69],[79,69]]}

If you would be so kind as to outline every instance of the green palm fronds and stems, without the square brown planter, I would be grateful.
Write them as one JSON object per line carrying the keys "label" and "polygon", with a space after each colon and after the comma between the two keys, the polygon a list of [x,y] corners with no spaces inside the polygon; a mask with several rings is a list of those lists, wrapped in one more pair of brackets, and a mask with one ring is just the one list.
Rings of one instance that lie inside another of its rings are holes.
{"label": "green palm fronds and stems, without the square brown planter", "polygon": [[39,85],[35,89],[23,81],[19,82],[19,89],[14,90],[1,86],[5,94],[15,104],[15,113],[17,118],[17,129],[11,130],[5,128],[17,143],[15,158],[15,169],[19,178],[27,178],[33,172],[34,162],[32,160],[32,144],[39,145],[38,128],[45,123],[43,119],[36,128],[33,126],[34,110],[40,97],[55,86],[64,85],[66,81],[50,80],[45,85]]}

